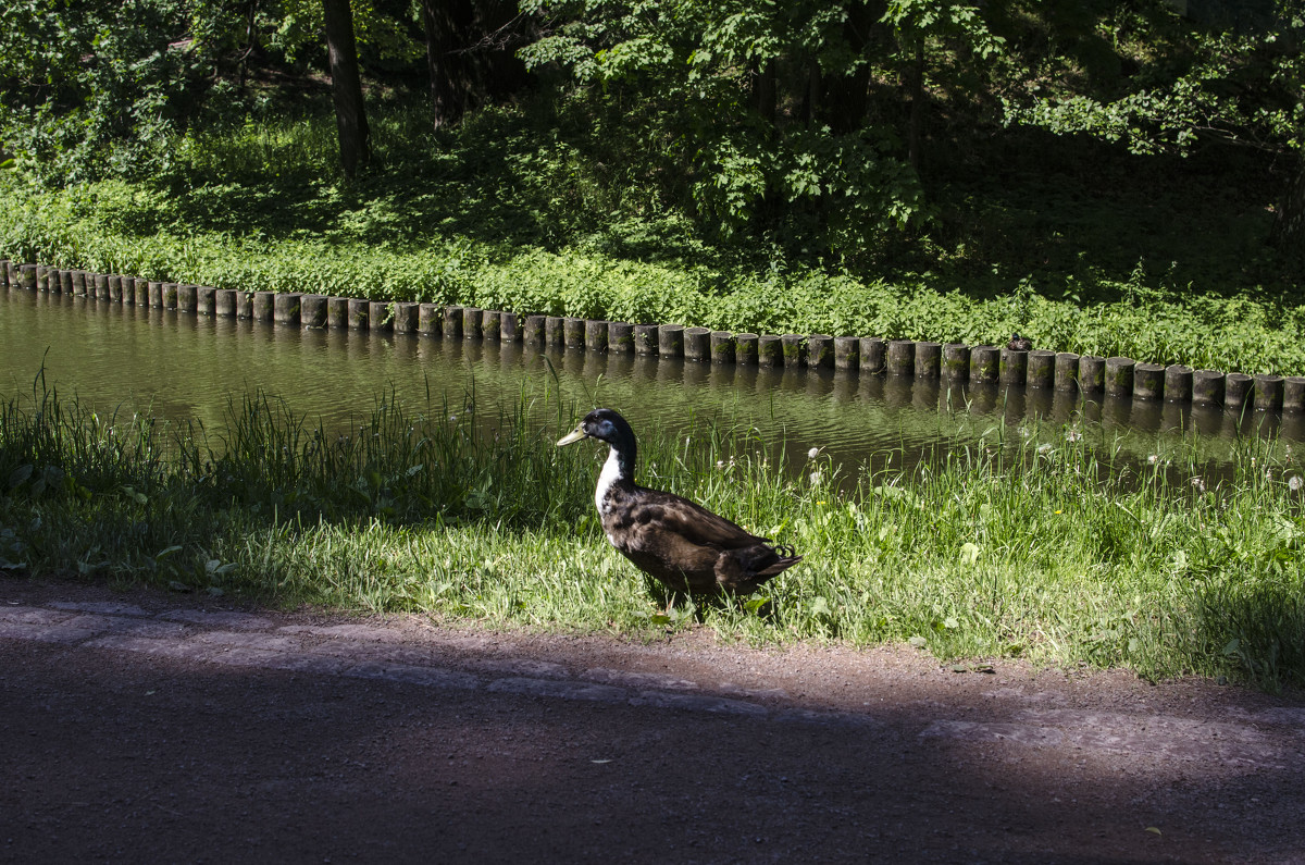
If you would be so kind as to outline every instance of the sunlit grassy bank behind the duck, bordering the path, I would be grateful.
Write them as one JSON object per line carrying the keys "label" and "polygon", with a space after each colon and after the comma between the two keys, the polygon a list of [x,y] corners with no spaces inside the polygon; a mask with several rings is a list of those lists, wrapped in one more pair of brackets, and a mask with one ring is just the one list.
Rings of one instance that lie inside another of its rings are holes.
{"label": "sunlit grassy bank behind the duck, bordering the path", "polygon": [[940,657],[1305,683],[1298,465],[1254,442],[1218,483],[1019,435],[839,478],[820,456],[782,470],[795,466],[743,431],[705,426],[707,447],[688,448],[642,430],[643,482],[806,557],[767,584],[769,605],[667,613],[596,525],[598,448],[555,448],[570,413],[551,406],[556,429],[539,431],[527,408],[478,425],[381,401],[356,434],[328,435],[251,397],[210,447],[38,387],[0,409],[0,566],[530,627],[697,621],[756,643],[910,640]]}

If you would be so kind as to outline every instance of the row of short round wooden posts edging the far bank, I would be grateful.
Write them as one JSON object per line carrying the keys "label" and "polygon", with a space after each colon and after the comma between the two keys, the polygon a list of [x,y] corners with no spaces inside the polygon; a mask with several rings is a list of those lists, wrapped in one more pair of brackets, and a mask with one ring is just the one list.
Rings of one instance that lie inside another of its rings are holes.
{"label": "row of short round wooden posts edging the far bank", "polygon": [[632,353],[711,363],[829,367],[971,384],[1015,384],[1113,397],[1305,410],[1305,376],[1245,375],[1139,363],[1130,358],[1006,346],[816,335],[756,335],[680,324],[628,324],[500,310],[364,301],[321,294],[240,291],[130,276],[0,261],[5,286],[108,303],[224,315],[305,328],[354,328],[444,338]]}

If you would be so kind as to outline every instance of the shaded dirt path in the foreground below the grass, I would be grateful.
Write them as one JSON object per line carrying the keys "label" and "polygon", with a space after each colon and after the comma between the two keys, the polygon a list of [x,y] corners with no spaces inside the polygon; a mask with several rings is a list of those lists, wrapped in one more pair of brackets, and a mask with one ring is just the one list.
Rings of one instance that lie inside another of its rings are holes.
{"label": "shaded dirt path in the foreground below the grass", "polygon": [[1305,700],[0,580],[0,860],[1305,862]]}

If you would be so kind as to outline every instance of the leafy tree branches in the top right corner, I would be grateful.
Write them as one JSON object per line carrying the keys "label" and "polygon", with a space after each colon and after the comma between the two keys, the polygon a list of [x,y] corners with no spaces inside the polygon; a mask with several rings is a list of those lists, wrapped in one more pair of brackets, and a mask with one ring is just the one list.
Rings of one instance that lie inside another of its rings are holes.
{"label": "leafy tree branches in the top right corner", "polygon": [[[1266,240],[1284,261],[1305,267],[1305,3],[1203,8],[1214,13],[1180,16],[1167,0],[1137,3],[1124,16],[1098,7],[1086,30],[1111,33],[1130,73],[1094,77],[1082,67],[1044,65],[1007,94],[1006,122],[1090,135],[1138,154],[1186,155],[1197,146],[1271,153],[1288,167]],[[1083,33],[1077,17],[1064,24]]]}

